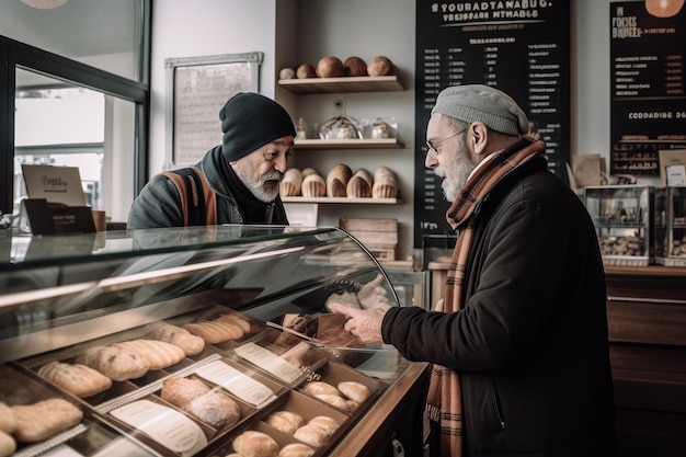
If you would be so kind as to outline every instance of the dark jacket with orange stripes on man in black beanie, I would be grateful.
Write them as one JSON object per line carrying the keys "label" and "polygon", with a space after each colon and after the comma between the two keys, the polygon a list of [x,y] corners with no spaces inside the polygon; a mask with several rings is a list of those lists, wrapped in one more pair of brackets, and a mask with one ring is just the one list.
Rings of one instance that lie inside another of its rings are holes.
{"label": "dark jacket with orange stripes on man in black beanie", "polygon": [[[227,185],[230,179],[221,153],[221,146],[210,149],[197,167],[205,174],[209,186],[217,194],[217,224],[244,224],[241,209]],[[281,197],[265,205],[265,220],[273,225],[288,225]],[[174,183],[158,174],[140,191],[128,216],[127,228],[183,227],[181,196]]]}

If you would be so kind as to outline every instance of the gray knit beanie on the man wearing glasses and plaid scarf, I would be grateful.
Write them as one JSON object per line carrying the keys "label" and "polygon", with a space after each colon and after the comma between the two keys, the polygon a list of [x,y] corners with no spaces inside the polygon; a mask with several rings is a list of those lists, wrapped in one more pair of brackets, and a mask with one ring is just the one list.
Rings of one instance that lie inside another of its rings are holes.
{"label": "gray knit beanie on the man wearing glasses and plaid scarf", "polygon": [[480,121],[492,130],[519,136],[529,130],[529,121],[506,93],[483,84],[455,85],[436,98],[431,114],[441,113],[468,124]]}

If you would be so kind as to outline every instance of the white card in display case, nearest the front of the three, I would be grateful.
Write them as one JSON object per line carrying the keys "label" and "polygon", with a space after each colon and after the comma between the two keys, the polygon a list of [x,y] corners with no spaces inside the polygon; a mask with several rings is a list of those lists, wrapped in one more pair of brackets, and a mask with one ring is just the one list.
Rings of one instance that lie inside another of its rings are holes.
{"label": "white card in display case, nearest the front of the three", "polygon": [[207,446],[207,437],[198,424],[181,412],[150,400],[134,401],[110,414],[184,457]]}

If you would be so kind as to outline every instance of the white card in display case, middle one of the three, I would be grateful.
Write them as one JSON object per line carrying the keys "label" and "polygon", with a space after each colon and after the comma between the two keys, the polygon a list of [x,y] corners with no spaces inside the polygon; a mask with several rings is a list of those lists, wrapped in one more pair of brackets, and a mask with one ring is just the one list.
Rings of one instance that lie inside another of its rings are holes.
{"label": "white card in display case, middle one of the three", "polygon": [[221,361],[204,365],[195,373],[256,408],[264,407],[276,399],[272,389]]}

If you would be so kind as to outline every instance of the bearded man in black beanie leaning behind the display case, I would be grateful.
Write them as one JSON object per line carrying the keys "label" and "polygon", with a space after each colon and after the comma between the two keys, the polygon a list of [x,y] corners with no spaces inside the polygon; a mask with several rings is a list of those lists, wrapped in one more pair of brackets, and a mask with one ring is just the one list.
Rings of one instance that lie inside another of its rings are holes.
{"label": "bearded man in black beanie leaning behind the display case", "polygon": [[278,187],[296,135],[290,116],[264,95],[239,92],[219,119],[221,145],[195,167],[152,178],[136,197],[127,228],[288,225]]}

